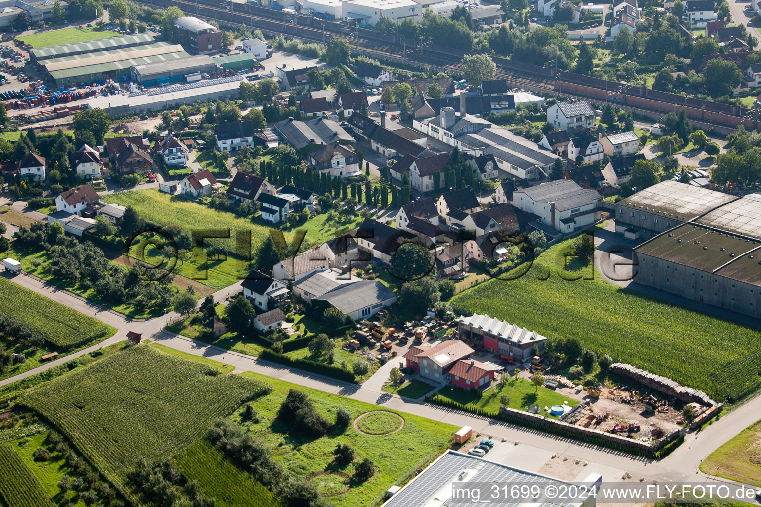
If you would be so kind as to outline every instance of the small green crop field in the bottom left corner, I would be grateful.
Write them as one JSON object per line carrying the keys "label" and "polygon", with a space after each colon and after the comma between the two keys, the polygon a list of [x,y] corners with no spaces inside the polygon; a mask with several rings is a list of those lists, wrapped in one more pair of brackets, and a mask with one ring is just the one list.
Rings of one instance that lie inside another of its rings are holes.
{"label": "small green crop field in the bottom left corner", "polygon": [[53,507],[42,483],[10,444],[0,445],[0,500],[7,507]]}

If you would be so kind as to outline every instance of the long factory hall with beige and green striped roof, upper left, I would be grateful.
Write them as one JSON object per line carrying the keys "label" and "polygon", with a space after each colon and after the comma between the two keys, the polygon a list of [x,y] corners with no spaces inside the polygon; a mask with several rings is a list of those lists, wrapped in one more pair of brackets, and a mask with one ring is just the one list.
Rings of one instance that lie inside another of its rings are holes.
{"label": "long factory hall with beige and green striped roof, upper left", "polygon": [[56,84],[88,84],[94,80],[119,79],[130,75],[130,67],[154,62],[169,62],[188,57],[179,44],[152,43],[122,49],[91,52],[43,60],[41,71]]}

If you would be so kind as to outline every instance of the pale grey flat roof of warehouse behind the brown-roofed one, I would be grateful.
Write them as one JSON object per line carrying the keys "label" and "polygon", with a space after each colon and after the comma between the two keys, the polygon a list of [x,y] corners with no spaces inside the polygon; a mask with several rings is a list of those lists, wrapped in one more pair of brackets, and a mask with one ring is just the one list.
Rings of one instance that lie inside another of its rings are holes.
{"label": "pale grey flat roof of warehouse behind the brown-roofed one", "polygon": [[734,195],[666,179],[617,202],[616,206],[686,222],[735,199]]}

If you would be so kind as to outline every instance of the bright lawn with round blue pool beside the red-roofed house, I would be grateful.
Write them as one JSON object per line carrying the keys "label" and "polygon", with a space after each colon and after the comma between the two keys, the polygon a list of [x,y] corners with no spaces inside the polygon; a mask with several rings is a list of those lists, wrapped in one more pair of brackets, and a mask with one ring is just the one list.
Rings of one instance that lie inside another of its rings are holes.
{"label": "bright lawn with round blue pool beside the red-roofed house", "polygon": [[578,404],[577,400],[563,396],[556,391],[552,391],[552,389],[537,388],[537,386],[526,379],[513,378],[508,380],[504,388],[501,387],[501,383],[499,385],[492,385],[492,388],[486,391],[482,398],[478,398],[475,394],[465,389],[454,387],[442,388],[438,391],[437,395],[457,401],[463,405],[494,411],[498,411],[500,405],[505,405],[501,401],[501,397],[507,396],[510,398],[510,401],[505,405],[506,407],[514,408],[515,410],[526,410],[531,405],[536,404],[541,409],[540,415],[553,419],[556,419],[556,417],[550,415],[549,411],[545,411],[544,407],[562,405],[564,401],[568,402],[568,407],[574,407]]}

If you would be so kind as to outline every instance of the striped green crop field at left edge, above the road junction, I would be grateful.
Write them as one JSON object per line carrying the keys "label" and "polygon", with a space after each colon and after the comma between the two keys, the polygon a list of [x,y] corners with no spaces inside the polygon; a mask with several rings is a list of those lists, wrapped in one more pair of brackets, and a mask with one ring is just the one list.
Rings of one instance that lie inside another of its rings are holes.
{"label": "striped green crop field at left edge, above the road junction", "polygon": [[0,313],[42,334],[56,349],[68,350],[116,332],[110,325],[14,284],[5,277],[0,277],[0,293],[3,295]]}

